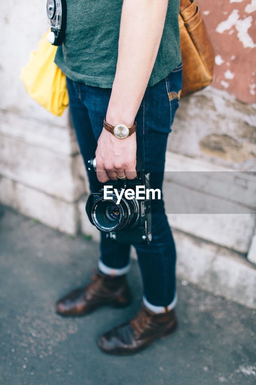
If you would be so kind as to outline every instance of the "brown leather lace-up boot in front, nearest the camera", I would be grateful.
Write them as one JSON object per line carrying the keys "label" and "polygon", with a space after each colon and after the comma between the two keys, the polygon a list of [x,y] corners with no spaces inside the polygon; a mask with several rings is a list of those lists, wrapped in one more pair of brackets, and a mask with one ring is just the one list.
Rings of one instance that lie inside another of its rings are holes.
{"label": "brown leather lace-up boot in front, nearest the camera", "polygon": [[156,314],[142,305],[141,310],[131,320],[103,334],[98,339],[98,346],[109,354],[133,354],[158,338],[172,333],[176,326],[174,310]]}

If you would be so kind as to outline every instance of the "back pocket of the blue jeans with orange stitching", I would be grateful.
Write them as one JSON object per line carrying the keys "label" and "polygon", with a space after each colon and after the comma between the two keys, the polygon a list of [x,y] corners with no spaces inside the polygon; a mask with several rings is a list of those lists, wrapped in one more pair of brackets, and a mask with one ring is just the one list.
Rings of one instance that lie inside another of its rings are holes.
{"label": "back pocket of the blue jeans with orange stitching", "polygon": [[175,117],[175,112],[179,107],[182,86],[182,64],[173,70],[165,78],[166,92],[170,105],[170,131]]}

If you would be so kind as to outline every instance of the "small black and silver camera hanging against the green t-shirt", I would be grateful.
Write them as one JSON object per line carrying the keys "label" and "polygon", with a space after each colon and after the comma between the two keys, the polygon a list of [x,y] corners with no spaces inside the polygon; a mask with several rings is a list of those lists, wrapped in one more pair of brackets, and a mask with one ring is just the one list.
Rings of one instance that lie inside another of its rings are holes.
{"label": "small black and silver camera hanging against the green t-shirt", "polygon": [[47,0],[46,12],[51,26],[47,40],[52,45],[62,45],[66,30],[66,0]]}

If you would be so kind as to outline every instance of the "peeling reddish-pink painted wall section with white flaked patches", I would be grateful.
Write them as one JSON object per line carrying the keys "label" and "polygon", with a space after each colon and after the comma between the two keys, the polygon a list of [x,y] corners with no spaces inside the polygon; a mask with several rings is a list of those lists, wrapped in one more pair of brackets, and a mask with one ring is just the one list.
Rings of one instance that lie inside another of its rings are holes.
{"label": "peeling reddish-pink painted wall section with white flaked patches", "polygon": [[256,102],[256,0],[197,0],[215,50],[213,86]]}

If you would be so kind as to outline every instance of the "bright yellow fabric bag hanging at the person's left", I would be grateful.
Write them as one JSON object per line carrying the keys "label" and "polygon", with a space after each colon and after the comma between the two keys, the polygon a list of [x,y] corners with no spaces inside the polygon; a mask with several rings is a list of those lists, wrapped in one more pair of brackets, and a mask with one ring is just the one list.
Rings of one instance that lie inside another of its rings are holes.
{"label": "bright yellow fabric bag hanging at the person's left", "polygon": [[69,103],[66,76],[54,63],[57,47],[47,41],[47,33],[21,69],[20,79],[33,99],[52,114],[61,116]]}

